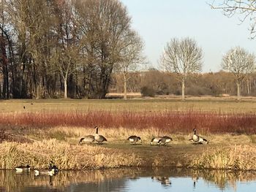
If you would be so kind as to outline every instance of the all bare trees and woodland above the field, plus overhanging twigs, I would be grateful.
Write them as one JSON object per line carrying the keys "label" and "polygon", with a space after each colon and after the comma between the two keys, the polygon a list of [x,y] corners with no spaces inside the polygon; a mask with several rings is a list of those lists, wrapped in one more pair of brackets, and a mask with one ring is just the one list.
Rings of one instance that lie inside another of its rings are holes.
{"label": "all bare trees and woodland above the field, plus overhanging twigs", "polygon": [[[228,15],[250,8],[234,2],[211,7]],[[189,37],[173,38],[160,56],[161,71],[139,72],[143,41],[118,0],[1,0],[0,6],[1,99],[102,99],[108,91],[126,99],[127,89],[182,99],[254,94],[255,55],[242,47],[223,55],[226,72],[202,74],[202,48]]]}

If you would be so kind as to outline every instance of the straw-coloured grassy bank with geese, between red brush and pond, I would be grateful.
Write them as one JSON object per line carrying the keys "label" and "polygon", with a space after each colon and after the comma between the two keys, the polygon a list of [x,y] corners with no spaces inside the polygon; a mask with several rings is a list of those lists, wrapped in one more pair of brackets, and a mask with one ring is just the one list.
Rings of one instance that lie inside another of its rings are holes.
{"label": "straw-coloured grassy bank with geese, between red brush and pond", "polygon": [[[182,166],[203,169],[255,169],[255,135],[206,134],[208,145],[192,145],[192,134],[170,134],[148,128],[101,128],[108,142],[104,145],[78,145],[81,137],[94,131],[86,128],[55,127],[30,130],[30,142],[0,144],[0,168],[14,169],[20,164],[47,168],[53,160],[60,169],[99,169],[127,166]],[[116,137],[118,133],[118,137]],[[131,145],[127,137],[139,135],[141,145]],[[169,135],[166,147],[151,146],[152,137]],[[236,146],[239,142],[241,146]],[[227,159],[229,161],[227,161]],[[227,162],[226,162],[227,161]]]}

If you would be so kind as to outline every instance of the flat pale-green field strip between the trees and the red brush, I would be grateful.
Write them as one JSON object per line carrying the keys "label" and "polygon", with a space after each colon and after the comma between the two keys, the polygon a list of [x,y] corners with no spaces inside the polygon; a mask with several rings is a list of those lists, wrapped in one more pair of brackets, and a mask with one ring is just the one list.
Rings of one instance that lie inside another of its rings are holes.
{"label": "flat pale-green field strip between the trees and the red brush", "polygon": [[[26,107],[24,110],[23,107]],[[235,97],[190,97],[187,101],[174,98],[156,99],[11,99],[0,100],[0,112],[88,112],[106,111],[211,111],[211,112],[256,112],[256,98],[245,97],[236,101]]]}

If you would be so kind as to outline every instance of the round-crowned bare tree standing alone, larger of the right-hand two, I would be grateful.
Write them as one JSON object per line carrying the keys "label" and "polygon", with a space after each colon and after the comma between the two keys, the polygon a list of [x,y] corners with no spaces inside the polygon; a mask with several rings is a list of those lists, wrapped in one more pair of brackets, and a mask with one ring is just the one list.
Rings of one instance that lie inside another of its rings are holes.
{"label": "round-crowned bare tree standing alone, larger of the right-hand two", "polygon": [[178,74],[181,82],[182,100],[185,99],[185,81],[187,74],[200,72],[202,68],[203,53],[197,43],[189,37],[185,39],[171,39],[167,43],[161,61],[167,72]]}

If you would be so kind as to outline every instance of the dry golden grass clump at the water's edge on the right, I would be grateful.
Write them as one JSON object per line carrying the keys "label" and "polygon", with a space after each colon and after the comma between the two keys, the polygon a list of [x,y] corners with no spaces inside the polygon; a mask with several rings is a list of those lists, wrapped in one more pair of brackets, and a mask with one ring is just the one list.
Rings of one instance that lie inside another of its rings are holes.
{"label": "dry golden grass clump at the water's edge on the right", "polygon": [[236,145],[208,149],[201,156],[195,156],[190,166],[204,169],[256,170],[254,145]]}

